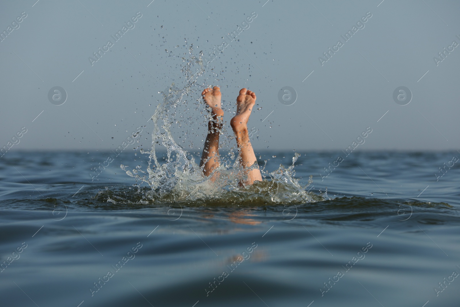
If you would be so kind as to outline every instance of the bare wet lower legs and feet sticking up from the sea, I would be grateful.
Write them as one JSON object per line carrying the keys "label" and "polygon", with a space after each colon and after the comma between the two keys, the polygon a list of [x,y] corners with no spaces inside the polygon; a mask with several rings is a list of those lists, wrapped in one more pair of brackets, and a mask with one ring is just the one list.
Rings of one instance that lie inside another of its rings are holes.
{"label": "bare wet lower legs and feet sticking up from the sea", "polygon": [[[201,95],[204,102],[211,108],[212,115],[212,119],[208,123],[208,134],[200,163],[200,166],[203,167],[203,173],[209,176],[214,169],[219,167],[219,135],[223,124],[224,110],[220,105],[222,93],[219,87],[206,88]],[[247,130],[247,121],[255,101],[255,93],[242,88],[236,98],[236,115],[230,120],[239,151],[238,162],[243,169],[251,168],[254,163],[257,166],[257,159]],[[243,185],[252,185],[254,181],[262,181],[262,175],[258,168],[248,169],[245,175],[247,175],[247,179],[242,181]]]}

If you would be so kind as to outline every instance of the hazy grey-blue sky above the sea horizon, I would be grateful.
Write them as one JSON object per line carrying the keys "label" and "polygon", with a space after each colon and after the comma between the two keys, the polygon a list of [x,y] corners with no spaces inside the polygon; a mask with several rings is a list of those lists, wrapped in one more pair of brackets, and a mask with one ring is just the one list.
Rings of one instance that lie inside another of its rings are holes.
{"label": "hazy grey-blue sky above the sea horizon", "polygon": [[434,0],[2,1],[0,147],[113,150],[143,127],[148,148],[159,92],[186,84],[192,47],[222,51],[176,116],[192,150],[213,85],[228,129],[239,89],[256,93],[256,151],[459,150],[459,12]]}

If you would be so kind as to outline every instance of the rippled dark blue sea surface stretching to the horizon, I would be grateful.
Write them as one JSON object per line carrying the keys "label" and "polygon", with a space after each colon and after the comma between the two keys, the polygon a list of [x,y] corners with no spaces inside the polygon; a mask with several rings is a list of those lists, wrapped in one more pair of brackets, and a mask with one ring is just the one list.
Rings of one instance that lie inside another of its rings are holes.
{"label": "rippled dark blue sea surface stretching to the horizon", "polygon": [[0,305],[459,306],[458,152],[356,151],[327,177],[337,152],[299,154],[303,190],[270,151],[259,186],[161,194],[120,168],[145,155],[92,180],[109,153],[8,152]]}

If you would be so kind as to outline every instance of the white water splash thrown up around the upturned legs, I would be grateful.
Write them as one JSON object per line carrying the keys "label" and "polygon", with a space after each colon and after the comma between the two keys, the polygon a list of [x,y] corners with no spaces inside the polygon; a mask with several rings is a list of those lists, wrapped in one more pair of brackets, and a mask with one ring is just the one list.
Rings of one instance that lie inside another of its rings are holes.
{"label": "white water splash thrown up around the upturned legs", "polygon": [[[263,205],[263,204],[285,204],[285,203],[306,203],[320,201],[323,198],[305,191],[306,186],[311,184],[311,177],[308,184],[302,186],[298,179],[295,179],[294,163],[299,158],[296,153],[293,157],[293,164],[288,168],[283,165],[272,172],[262,174],[263,182],[256,182],[254,185],[242,187],[239,182],[244,180],[244,172],[238,167],[236,145],[230,147],[231,142],[235,143],[233,133],[228,133],[224,125],[220,136],[222,148],[229,148],[227,155],[221,155],[221,165],[214,170],[214,175],[203,176],[202,168],[196,164],[193,155],[183,146],[187,143],[185,139],[190,137],[190,131],[186,131],[183,138],[183,145],[179,145],[171,132],[172,125],[181,127],[192,127],[193,120],[187,116],[190,110],[191,101],[194,101],[195,114],[204,114],[204,122],[210,120],[209,112],[204,111],[201,103],[201,91],[208,85],[205,81],[198,84],[197,80],[205,73],[202,61],[202,52],[198,58],[193,54],[193,46],[189,48],[189,58],[181,57],[184,63],[181,68],[183,83],[177,86],[172,83],[165,92],[162,92],[163,101],[156,107],[151,117],[153,122],[152,144],[148,151],[141,149],[141,154],[148,154],[148,166],[143,170],[141,166],[129,170],[128,166],[121,165],[127,175],[134,177],[137,181],[138,193],[142,199],[138,202],[149,203],[186,203],[196,205]],[[197,98],[198,97],[198,98]],[[225,110],[225,103],[223,109]],[[228,111],[231,111],[229,108]],[[230,112],[231,114],[231,112]],[[196,125],[196,124],[195,124]],[[186,130],[186,129],[185,129]],[[193,129],[192,129],[193,130]],[[197,135],[196,135],[197,136]],[[194,148],[190,142],[190,148]],[[199,147],[198,147],[199,149]],[[158,152],[166,150],[166,159],[161,160]],[[221,151],[222,152],[222,151]],[[266,165],[266,161],[265,161]],[[254,167],[257,167],[256,165]],[[142,184],[145,184],[141,187]],[[123,203],[123,199],[110,199],[112,203]],[[130,201],[131,203],[131,201]]]}

